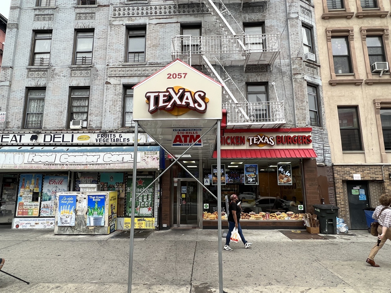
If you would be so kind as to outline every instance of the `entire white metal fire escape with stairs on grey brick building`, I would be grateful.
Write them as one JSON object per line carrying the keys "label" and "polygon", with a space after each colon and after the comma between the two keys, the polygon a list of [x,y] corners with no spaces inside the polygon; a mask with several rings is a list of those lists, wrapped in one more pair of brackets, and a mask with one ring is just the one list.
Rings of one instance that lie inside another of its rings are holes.
{"label": "entire white metal fire escape with stairs on grey brick building", "polygon": [[[189,0],[176,0],[177,4]],[[228,128],[276,128],[285,124],[284,102],[248,102],[225,69],[225,66],[272,66],[280,53],[278,34],[245,34],[225,4],[258,2],[267,6],[267,0],[202,0],[224,31],[224,35],[171,38],[172,59],[179,58],[189,65],[202,65],[223,85],[223,108],[227,111]],[[229,23],[235,25],[236,32]],[[237,33],[238,32],[238,33]],[[216,66],[216,67],[215,67]],[[217,70],[219,68],[219,70]],[[221,73],[221,75],[218,73]],[[230,90],[231,88],[231,90]],[[236,94],[234,95],[233,92]]]}

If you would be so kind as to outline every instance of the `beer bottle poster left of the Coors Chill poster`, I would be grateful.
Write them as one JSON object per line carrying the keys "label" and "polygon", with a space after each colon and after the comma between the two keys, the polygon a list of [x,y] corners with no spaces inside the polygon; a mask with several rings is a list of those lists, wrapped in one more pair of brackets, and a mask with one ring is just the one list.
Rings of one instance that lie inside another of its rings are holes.
{"label": "beer bottle poster left of the Coors Chill poster", "polygon": [[21,174],[18,189],[17,217],[38,217],[42,174]]}

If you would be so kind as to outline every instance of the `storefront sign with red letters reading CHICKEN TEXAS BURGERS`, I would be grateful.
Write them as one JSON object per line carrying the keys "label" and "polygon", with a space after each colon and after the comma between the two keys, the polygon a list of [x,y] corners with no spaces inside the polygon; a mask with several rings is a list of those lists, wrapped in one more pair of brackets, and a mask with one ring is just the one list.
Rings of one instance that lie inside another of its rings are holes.
{"label": "storefront sign with red letters reading CHICKEN TEXAS BURGERS", "polygon": [[221,148],[312,148],[311,132],[226,133]]}

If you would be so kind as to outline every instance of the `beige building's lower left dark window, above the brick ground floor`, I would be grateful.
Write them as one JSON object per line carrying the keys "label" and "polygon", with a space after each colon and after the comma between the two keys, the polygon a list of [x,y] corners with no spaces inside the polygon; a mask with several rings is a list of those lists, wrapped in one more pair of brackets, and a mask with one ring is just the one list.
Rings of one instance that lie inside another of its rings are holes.
{"label": "beige building's lower left dark window, above the brick ground floor", "polygon": [[357,107],[338,107],[342,150],[362,150]]}

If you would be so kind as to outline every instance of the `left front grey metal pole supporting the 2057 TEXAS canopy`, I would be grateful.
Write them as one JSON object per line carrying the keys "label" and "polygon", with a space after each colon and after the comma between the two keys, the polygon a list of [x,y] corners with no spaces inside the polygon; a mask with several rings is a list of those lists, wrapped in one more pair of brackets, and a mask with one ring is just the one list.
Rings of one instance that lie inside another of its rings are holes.
{"label": "left front grey metal pole supporting the 2057 TEXAS canopy", "polygon": [[132,186],[131,222],[130,222],[129,268],[128,268],[128,275],[127,275],[127,293],[132,293],[133,243],[135,241],[137,143],[138,143],[138,121],[135,121],[135,151],[133,153],[133,186]]}

